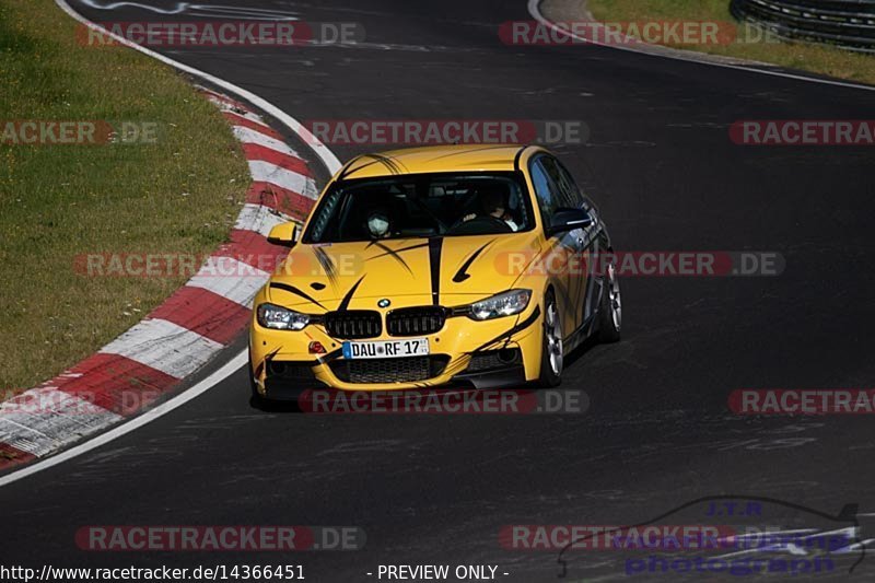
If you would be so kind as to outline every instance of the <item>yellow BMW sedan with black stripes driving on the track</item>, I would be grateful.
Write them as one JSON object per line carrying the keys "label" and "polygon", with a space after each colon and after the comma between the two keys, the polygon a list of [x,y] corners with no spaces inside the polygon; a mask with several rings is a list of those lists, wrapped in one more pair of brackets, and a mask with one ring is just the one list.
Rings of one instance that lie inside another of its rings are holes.
{"label": "yellow BMW sedan with black stripes driving on the track", "polygon": [[361,155],[322,193],[255,298],[254,397],[307,389],[556,386],[591,336],[620,337],[598,210],[549,151],[450,145]]}

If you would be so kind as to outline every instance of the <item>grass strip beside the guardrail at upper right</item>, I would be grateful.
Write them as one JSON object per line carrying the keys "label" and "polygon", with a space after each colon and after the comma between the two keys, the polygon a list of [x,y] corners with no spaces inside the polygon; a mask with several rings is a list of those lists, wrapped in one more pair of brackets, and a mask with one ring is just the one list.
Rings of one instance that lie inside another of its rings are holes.
{"label": "grass strip beside the guardrail at upper right", "polygon": [[[588,0],[588,5],[593,15],[599,21],[693,20],[735,22],[730,13],[730,0]],[[825,45],[778,42],[685,45],[676,48],[751,59],[875,84],[875,57]]]}

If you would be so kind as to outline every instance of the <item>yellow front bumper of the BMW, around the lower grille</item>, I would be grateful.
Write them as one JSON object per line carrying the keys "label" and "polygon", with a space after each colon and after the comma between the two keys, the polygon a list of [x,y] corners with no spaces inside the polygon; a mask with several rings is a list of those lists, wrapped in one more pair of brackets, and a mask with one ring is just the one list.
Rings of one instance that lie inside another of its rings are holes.
{"label": "yellow front bumper of the BMW, around the lower grille", "polygon": [[[540,373],[542,315],[536,302],[517,316],[488,322],[448,318],[429,339],[431,354],[347,360],[342,340],[322,326],[302,331],[262,328],[255,319],[249,339],[252,371],[262,397],[294,400],[316,388],[409,390],[438,386],[518,387]],[[383,335],[371,340],[398,340]],[[318,341],[327,354],[311,354]]]}

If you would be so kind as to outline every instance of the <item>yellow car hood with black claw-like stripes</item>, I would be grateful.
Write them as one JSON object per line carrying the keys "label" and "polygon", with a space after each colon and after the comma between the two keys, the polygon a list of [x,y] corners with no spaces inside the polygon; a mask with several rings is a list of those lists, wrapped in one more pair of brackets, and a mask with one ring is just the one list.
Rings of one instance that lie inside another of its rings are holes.
{"label": "yellow car hood with black claw-like stripes", "polygon": [[316,313],[373,310],[374,299],[460,305],[512,289],[539,250],[536,233],[298,245],[268,298]]}

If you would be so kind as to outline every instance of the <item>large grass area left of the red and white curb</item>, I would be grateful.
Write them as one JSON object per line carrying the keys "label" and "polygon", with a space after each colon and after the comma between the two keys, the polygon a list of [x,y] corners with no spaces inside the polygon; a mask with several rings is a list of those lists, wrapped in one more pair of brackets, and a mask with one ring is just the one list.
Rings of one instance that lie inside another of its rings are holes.
{"label": "large grass area left of the red and white curb", "polygon": [[52,0],[0,3],[0,120],[158,123],[159,141],[0,144],[0,399],[90,355],[186,279],[85,277],[77,255],[214,250],[248,185],[212,104],[133,50],[82,46],[78,26]]}

